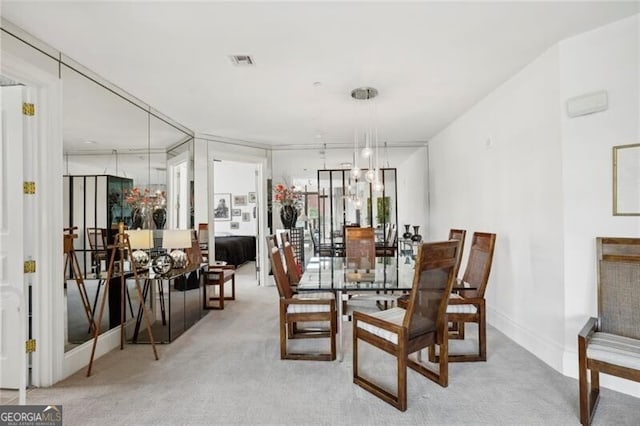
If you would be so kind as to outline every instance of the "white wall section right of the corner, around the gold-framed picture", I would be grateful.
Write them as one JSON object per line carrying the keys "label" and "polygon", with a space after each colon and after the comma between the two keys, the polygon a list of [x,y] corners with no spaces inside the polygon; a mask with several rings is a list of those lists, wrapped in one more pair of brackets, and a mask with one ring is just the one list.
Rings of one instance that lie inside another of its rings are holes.
{"label": "white wall section right of the corner, around the gold-framed picture", "polygon": [[[560,48],[561,101],[606,90],[607,111],[562,117],[565,241],[565,374],[577,375],[577,331],[597,314],[597,236],[640,235],[640,219],[612,215],[612,146],[638,143],[640,16],[565,40]],[[564,106],[564,104],[563,104]],[[609,377],[604,386],[612,385]],[[640,396],[640,385],[619,389]],[[624,383],[624,384],[622,384]],[[630,386],[631,385],[631,386]],[[634,390],[635,389],[635,390]]]}

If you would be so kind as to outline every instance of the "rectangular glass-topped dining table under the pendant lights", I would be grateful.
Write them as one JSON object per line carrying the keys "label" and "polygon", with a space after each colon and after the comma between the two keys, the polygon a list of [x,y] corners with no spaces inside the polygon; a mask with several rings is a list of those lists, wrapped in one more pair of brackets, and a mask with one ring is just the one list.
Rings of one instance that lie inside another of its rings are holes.
{"label": "rectangular glass-topped dining table under the pendant lights", "polygon": [[[395,300],[411,291],[415,270],[415,259],[405,256],[376,257],[369,262],[370,268],[356,268],[347,264],[344,257],[312,257],[300,278],[299,293],[332,292],[336,298],[338,314],[338,359],[343,359],[343,297],[348,294],[370,293],[371,300]],[[453,291],[472,290],[473,287],[460,280],[454,284]]]}

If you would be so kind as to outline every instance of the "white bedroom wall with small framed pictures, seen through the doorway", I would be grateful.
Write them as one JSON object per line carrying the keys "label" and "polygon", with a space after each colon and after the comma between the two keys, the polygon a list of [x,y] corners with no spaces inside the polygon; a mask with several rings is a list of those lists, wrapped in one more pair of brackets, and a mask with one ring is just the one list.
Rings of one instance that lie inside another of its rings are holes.
{"label": "white bedroom wall with small framed pictures, seen through the doorway", "polygon": [[[249,214],[249,221],[243,221],[242,216],[232,216],[230,221],[216,221],[215,231],[229,232],[234,235],[257,235],[257,210],[256,203],[248,201],[249,192],[256,193],[256,169],[257,166],[251,163],[237,161],[216,161],[213,165],[214,171],[214,192],[231,194],[231,210],[239,209],[241,213]],[[244,206],[235,205],[234,196],[244,195],[247,197],[247,204]],[[214,206],[218,199],[214,199]],[[231,223],[238,223],[239,229],[231,229]]]}

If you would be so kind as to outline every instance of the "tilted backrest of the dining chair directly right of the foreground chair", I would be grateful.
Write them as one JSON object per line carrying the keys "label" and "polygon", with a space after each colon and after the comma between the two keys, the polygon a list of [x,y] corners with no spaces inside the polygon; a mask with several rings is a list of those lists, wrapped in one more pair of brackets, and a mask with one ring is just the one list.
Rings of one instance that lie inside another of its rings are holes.
{"label": "tilted backrest of the dining chair directly right of the foreground chair", "polygon": [[484,297],[487,282],[489,281],[489,274],[491,273],[495,244],[496,234],[485,232],[473,233],[467,267],[462,279],[477,288],[477,290],[474,291],[477,297]]}

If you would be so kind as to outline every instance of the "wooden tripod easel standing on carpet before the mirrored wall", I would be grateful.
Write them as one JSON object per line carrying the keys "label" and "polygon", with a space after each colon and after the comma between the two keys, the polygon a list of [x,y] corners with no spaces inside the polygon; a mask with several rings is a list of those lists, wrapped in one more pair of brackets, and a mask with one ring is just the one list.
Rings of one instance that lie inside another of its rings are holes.
{"label": "wooden tripod easel standing on carpet before the mirrored wall", "polygon": [[[114,273],[114,264],[116,258],[116,251],[120,251],[120,259],[118,260],[119,266],[119,274],[120,274],[120,349],[124,349],[124,340],[125,340],[125,292],[127,280],[124,276],[124,262],[125,258],[131,255],[131,245],[129,244],[129,235],[124,232],[124,223],[120,222],[118,224],[118,235],[116,236],[115,244],[109,246],[111,249],[111,256],[109,257],[109,266],[107,268],[107,278],[105,280],[105,290],[102,294],[102,302],[100,303],[100,313],[98,314],[98,321],[95,327],[95,331],[93,334],[93,347],[91,348],[91,359],[89,360],[89,368],[87,369],[87,377],[91,375],[91,368],[93,367],[93,358],[96,353],[96,345],[98,344],[98,336],[100,335],[100,323],[102,322],[102,314],[104,313],[104,305],[107,301],[107,297],[109,295],[109,285],[111,281],[111,277]],[[133,264],[133,262],[131,262]],[[139,300],[144,300],[142,295],[142,290],[140,289],[140,280],[138,279],[138,271],[136,268],[133,268],[133,277],[136,282],[136,290],[138,291]],[[151,342],[151,347],[153,348],[153,355],[156,358],[156,361],[160,359],[158,357],[158,351],[156,350],[155,339],[153,338],[153,333],[151,332],[151,321],[149,320],[149,316],[147,314],[147,309],[144,303],[140,304],[140,309],[142,309],[142,315],[144,317],[144,321],[147,325],[147,332],[149,333],[149,341]]]}

